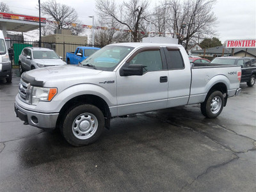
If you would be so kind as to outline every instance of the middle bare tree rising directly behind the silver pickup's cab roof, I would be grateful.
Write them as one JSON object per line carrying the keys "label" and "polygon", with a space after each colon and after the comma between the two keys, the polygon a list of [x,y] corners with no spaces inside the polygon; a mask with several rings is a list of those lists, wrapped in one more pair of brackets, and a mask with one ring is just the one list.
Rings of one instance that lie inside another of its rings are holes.
{"label": "middle bare tree rising directly behind the silver pickup's cab roof", "polygon": [[[147,13],[148,1],[124,1],[119,7],[113,0],[97,0],[96,2],[100,17],[115,19],[122,27],[129,29],[133,42],[138,42],[141,37],[147,36],[146,34],[141,34],[140,31],[149,16]],[[122,10],[122,12],[118,12],[118,10]]]}

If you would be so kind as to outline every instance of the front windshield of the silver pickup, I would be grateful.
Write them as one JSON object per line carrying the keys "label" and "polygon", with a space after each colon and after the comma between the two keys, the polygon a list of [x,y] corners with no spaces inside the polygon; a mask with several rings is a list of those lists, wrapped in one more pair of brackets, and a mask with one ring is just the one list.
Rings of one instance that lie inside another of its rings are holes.
{"label": "front windshield of the silver pickup", "polygon": [[113,71],[132,49],[134,48],[118,45],[105,46],[82,61],[81,65],[87,67],[93,66],[93,68],[99,70]]}

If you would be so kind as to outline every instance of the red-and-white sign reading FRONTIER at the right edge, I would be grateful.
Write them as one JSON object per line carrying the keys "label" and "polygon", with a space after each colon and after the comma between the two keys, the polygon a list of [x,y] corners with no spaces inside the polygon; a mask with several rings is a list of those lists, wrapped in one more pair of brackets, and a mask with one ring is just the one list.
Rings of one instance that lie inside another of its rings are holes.
{"label": "red-and-white sign reading FRONTIER at the right edge", "polygon": [[256,48],[256,39],[227,40],[227,48]]}

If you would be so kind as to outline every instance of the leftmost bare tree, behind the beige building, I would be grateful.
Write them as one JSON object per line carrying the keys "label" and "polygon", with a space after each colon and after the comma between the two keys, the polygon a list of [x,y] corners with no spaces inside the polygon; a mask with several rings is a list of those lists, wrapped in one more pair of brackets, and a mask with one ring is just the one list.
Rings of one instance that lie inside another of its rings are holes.
{"label": "leftmost bare tree, behind the beige building", "polygon": [[74,35],[83,31],[77,20],[77,13],[74,8],[65,4],[57,3],[56,0],[45,1],[41,4],[42,13],[52,20],[54,29],[70,29]]}

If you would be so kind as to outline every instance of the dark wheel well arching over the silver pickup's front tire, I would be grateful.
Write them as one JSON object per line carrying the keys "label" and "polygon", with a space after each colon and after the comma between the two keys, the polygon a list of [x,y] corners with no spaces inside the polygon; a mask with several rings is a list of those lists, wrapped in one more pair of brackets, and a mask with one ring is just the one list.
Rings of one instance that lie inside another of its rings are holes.
{"label": "dark wheel well arching over the silver pickup's front tire", "polygon": [[63,122],[63,118],[66,115],[65,111],[77,104],[92,104],[93,106],[99,108],[105,118],[105,127],[109,129],[111,113],[109,111],[108,104],[104,99],[96,95],[79,95],[68,100],[68,102],[60,110],[60,115],[58,116],[56,123],[57,127],[59,127],[60,123]]}

